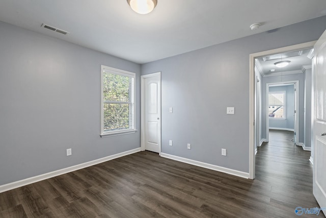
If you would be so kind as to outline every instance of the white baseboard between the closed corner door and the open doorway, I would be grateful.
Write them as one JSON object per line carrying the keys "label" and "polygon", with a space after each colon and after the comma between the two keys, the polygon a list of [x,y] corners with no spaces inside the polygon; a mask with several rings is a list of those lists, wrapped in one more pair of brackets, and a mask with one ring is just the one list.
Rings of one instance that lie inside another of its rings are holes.
{"label": "white baseboard between the closed corner door and the open doorway", "polygon": [[195,165],[195,166],[200,166],[200,167],[207,168],[207,169],[212,169],[213,171],[219,171],[219,172],[230,174],[230,175],[233,175],[233,176],[238,176],[238,177],[249,179],[249,173],[236,171],[235,169],[230,169],[230,168],[226,168],[226,167],[223,167],[223,166],[204,163],[204,162],[200,162],[200,161],[197,161],[197,160],[191,160],[191,159],[178,157],[178,156],[165,154],[165,153],[161,153],[161,157],[165,157],[165,158],[180,161],[180,162],[183,162],[183,163],[188,163],[188,164],[192,164],[192,165]]}

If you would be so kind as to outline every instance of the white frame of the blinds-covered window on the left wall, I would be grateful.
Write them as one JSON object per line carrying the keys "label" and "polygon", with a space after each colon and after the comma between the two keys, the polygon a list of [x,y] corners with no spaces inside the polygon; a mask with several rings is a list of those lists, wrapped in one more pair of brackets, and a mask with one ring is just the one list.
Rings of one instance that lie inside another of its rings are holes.
{"label": "white frame of the blinds-covered window on the left wall", "polygon": [[[132,121],[129,122],[133,123],[132,128],[130,129],[123,129],[123,130],[111,130],[104,132],[104,99],[103,99],[103,73],[109,73],[109,74],[115,74],[115,75],[120,75],[124,77],[130,77],[133,78],[133,90],[131,91],[131,96],[129,96],[129,104],[133,104],[133,110],[131,111],[133,113],[132,115]],[[135,103],[135,95],[136,95],[136,74],[134,72],[129,72],[126,70],[122,69],[117,69],[109,66],[104,66],[101,65],[101,137],[106,137],[106,136],[114,136],[114,135],[123,135],[123,134],[129,134],[129,133],[134,133],[137,131],[135,129],[136,127],[136,103]]]}

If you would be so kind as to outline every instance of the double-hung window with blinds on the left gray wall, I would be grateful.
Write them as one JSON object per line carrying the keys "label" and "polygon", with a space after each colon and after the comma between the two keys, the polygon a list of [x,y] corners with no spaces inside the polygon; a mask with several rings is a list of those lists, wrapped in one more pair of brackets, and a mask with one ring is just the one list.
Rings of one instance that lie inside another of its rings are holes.
{"label": "double-hung window with blinds on the left gray wall", "polygon": [[101,136],[135,131],[135,74],[101,66]]}

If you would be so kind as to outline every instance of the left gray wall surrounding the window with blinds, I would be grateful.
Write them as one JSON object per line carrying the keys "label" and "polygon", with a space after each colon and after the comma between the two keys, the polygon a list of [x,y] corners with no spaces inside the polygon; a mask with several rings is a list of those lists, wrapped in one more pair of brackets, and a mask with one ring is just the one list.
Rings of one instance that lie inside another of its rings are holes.
{"label": "left gray wall surrounding the window with blinds", "polygon": [[101,64],[137,74],[140,130],[139,64],[3,22],[0,36],[0,185],[140,147],[140,132],[99,136]]}

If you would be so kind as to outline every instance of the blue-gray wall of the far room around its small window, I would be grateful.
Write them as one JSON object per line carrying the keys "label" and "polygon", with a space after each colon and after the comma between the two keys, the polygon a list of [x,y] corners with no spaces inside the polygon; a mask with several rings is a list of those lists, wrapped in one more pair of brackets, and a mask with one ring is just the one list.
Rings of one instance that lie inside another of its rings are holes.
{"label": "blue-gray wall of the far room around its small window", "polygon": [[269,118],[269,129],[283,128],[294,129],[294,85],[289,86],[272,86],[269,91],[285,91],[285,119]]}

